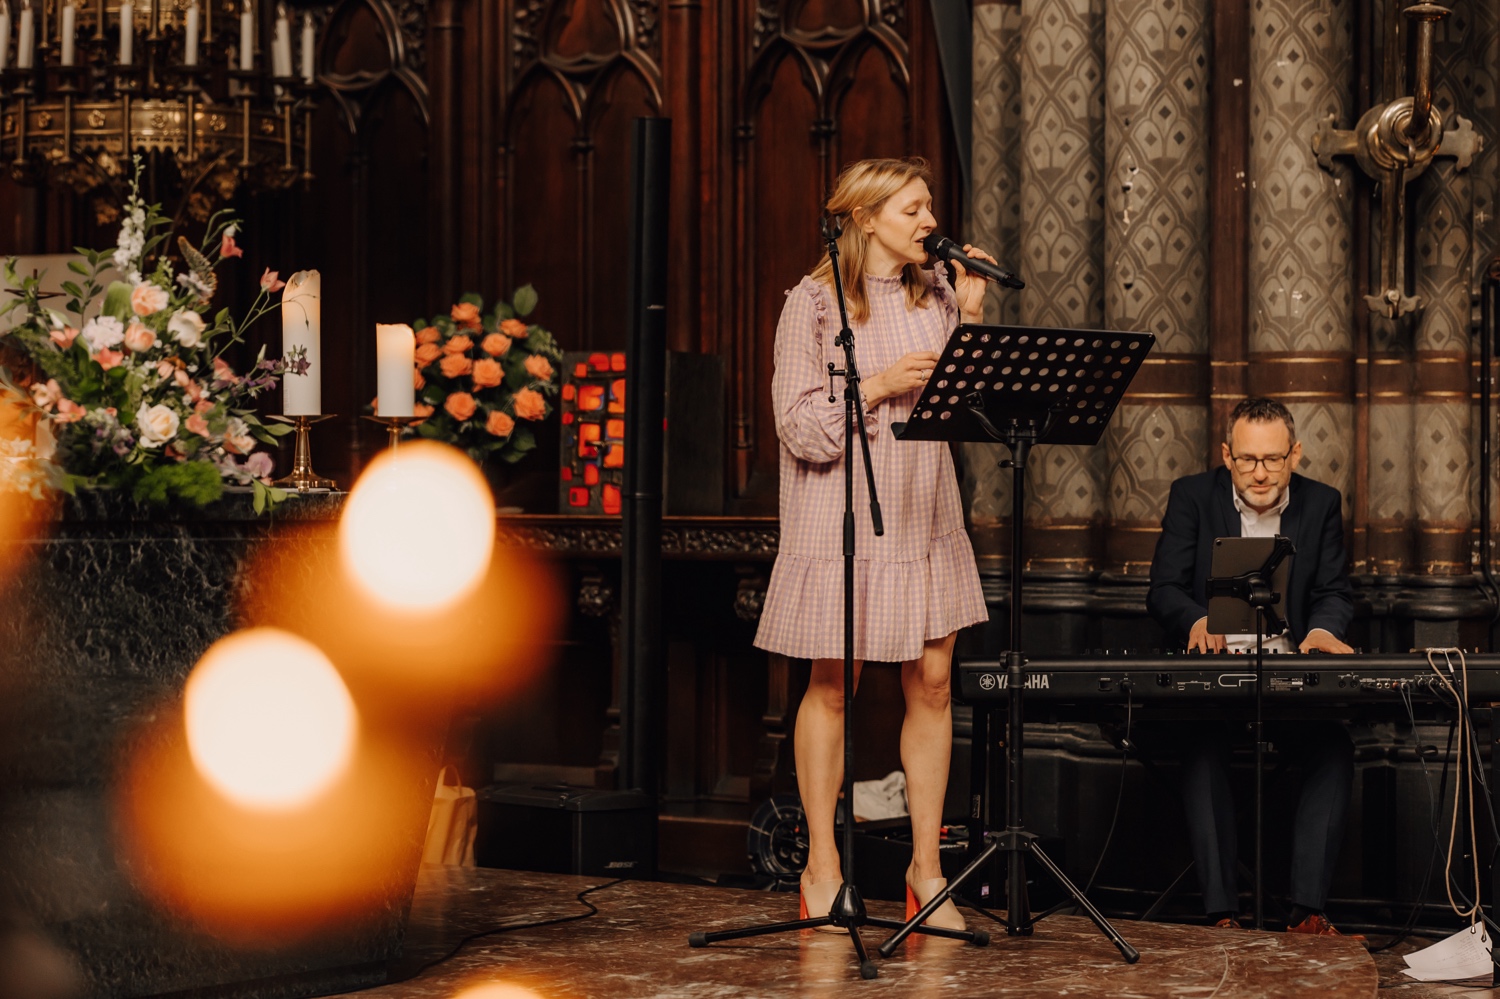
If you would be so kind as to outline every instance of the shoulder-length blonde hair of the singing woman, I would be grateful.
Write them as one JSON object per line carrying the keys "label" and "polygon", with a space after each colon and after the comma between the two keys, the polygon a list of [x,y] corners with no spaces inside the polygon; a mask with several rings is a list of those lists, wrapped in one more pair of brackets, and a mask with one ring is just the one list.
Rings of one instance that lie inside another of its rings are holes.
{"label": "shoulder-length blonde hair of the singing woman", "polygon": [[[864,290],[864,262],[870,252],[870,237],[861,224],[878,214],[891,195],[914,180],[926,182],[928,188],[933,183],[932,170],[921,156],[861,159],[840,171],[834,194],[824,204],[828,214],[843,226],[843,234],[838,237],[838,278],[843,280],[844,298],[849,303],[849,322],[864,322],[870,318],[870,298]],[[834,267],[826,252],[813,268],[813,280],[820,280],[830,288],[834,285]],[[927,306],[932,286],[921,267],[916,264],[902,267],[902,288],[906,291],[908,309]]]}

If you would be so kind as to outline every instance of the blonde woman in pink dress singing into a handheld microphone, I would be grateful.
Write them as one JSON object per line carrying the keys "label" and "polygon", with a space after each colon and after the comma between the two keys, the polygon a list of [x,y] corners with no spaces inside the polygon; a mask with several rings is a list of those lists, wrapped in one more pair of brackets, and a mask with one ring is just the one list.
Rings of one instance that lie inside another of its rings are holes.
{"label": "blonde woman in pink dress singing into a handheld microphone", "polygon": [[[843,226],[840,279],[885,518],[884,537],[867,516],[856,518],[854,676],[858,688],[864,662],[902,663],[902,764],[912,818],[908,918],[946,884],[938,838],[952,748],[954,634],[988,618],[948,446],[897,441],[890,432],[910,414],[958,318],[978,322],[982,309],[982,278],[956,264],[950,286],[940,268],[922,270],[922,238],[936,226],[930,180],[921,159],[867,159],[844,168],[826,204]],[[966,250],[993,261],[980,249]],[[843,462],[861,458],[844,454],[843,393],[828,400],[828,363],[843,368],[843,348],[834,345],[838,326],[825,254],[786,294],[776,332],[771,399],[782,440],[782,543],[754,642],[813,662],[795,736],[808,836],[804,918],[826,915],[842,882],[834,807],[843,783]],[[861,470],[855,492],[854,508],[867,510]],[[951,902],[928,924],[964,928]]]}

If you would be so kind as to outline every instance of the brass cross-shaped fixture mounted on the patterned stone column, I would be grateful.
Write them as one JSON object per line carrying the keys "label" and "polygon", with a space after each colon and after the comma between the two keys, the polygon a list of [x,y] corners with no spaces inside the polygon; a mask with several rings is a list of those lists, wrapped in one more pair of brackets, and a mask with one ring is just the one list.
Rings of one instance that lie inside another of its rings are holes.
{"label": "brass cross-shaped fixture mounted on the patterned stone column", "polygon": [[1334,170],[1335,156],[1353,156],[1380,183],[1380,291],[1365,296],[1365,304],[1392,320],[1422,308],[1420,298],[1406,294],[1401,268],[1407,182],[1419,177],[1436,156],[1452,156],[1458,170],[1467,168],[1482,141],[1468,118],[1455,114],[1449,124],[1432,106],[1432,30],[1452,10],[1413,3],[1401,14],[1416,27],[1412,96],[1370,108],[1353,130],[1334,128],[1329,116],[1312,136],[1312,152],[1323,170]]}

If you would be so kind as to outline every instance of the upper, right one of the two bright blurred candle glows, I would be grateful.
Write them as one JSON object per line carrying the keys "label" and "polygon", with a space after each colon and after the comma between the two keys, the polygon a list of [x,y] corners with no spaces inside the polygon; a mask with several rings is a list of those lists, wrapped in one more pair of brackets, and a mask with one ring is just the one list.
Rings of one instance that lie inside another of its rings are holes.
{"label": "upper, right one of the two bright blurred candle glows", "polygon": [[471,594],[495,546],[495,501],[478,468],[432,441],[376,458],[339,522],[346,572],[378,602],[438,610]]}

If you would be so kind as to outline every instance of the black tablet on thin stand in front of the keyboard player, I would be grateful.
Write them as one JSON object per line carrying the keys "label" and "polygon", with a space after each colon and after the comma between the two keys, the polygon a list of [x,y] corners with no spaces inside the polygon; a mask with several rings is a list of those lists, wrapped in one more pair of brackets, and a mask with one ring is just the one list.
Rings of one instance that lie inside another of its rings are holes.
{"label": "black tablet on thin stand in front of the keyboard player", "polygon": [[1275,537],[1216,537],[1209,561],[1209,634],[1245,634],[1256,630],[1256,928],[1266,928],[1264,894],[1262,891],[1260,854],[1264,840],[1264,780],[1266,758],[1262,699],[1264,684],[1264,639],[1268,630],[1286,630],[1287,580],[1292,578],[1292,540]]}

